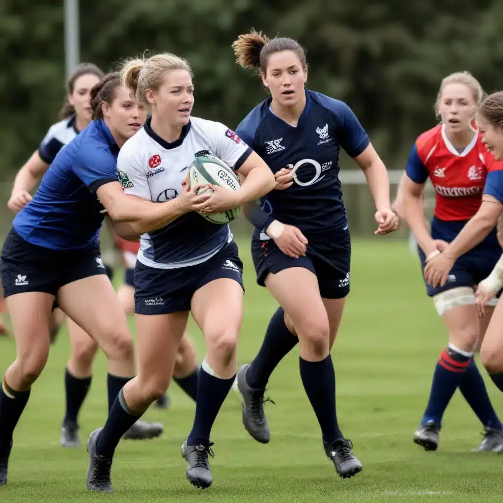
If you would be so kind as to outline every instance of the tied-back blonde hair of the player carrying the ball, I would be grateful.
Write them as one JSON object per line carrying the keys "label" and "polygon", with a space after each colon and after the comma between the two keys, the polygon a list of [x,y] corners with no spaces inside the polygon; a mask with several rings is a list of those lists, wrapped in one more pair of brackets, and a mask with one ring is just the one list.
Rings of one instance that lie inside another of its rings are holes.
{"label": "tied-back blonde hair of the player carrying the ball", "polygon": [[145,107],[150,108],[145,92],[158,91],[164,74],[170,70],[186,70],[193,76],[189,62],[165,52],[150,57],[129,59],[121,68],[122,85]]}

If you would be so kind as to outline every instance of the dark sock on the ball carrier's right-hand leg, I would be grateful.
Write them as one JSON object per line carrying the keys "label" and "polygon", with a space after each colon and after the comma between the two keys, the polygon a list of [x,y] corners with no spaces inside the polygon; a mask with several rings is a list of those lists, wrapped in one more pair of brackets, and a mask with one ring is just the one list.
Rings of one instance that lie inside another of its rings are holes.
{"label": "dark sock on the ball carrier's right-hand leg", "polygon": [[225,397],[234,383],[234,377],[220,379],[210,374],[212,370],[203,366],[199,370],[199,383],[197,388],[196,415],[192,431],[187,438],[187,445],[208,446],[213,423],[218,415]]}

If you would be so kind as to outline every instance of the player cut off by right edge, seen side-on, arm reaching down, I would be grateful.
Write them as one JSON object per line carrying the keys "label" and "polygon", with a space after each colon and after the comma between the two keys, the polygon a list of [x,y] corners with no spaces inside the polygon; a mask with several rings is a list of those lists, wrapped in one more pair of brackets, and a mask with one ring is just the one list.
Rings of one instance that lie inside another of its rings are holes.
{"label": "player cut off by right edge, seen side-on, arm reaching down", "polygon": [[[477,112],[477,126],[482,135],[482,142],[495,161],[489,165],[487,179],[478,211],[463,227],[458,236],[447,248],[428,262],[425,278],[436,288],[447,284],[449,276],[456,267],[459,257],[472,253],[487,239],[491,239],[494,226],[503,211],[503,92],[487,96]],[[480,243],[480,244],[479,244]],[[492,260],[487,253],[486,257]],[[487,274],[486,274],[487,276]],[[485,278],[485,277],[484,277]],[[476,301],[480,314],[484,314],[487,300],[503,286],[503,258],[499,259],[493,271],[479,285]],[[487,331],[480,348],[482,364],[500,391],[503,391],[503,304],[499,301],[489,321]]]}

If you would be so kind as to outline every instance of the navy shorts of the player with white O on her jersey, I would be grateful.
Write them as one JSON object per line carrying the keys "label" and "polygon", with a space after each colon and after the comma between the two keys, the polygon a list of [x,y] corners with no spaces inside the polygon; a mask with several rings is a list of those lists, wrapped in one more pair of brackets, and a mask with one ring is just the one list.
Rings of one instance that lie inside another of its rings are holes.
{"label": "navy shorts of the player with white O on her jersey", "polygon": [[303,267],[316,275],[319,292],[325,299],[342,299],[349,294],[351,269],[351,237],[348,229],[308,239],[305,257],[294,259],[285,255],[272,240],[254,234],[251,257],[257,272],[257,283],[265,286],[269,273],[276,274],[290,267]]}

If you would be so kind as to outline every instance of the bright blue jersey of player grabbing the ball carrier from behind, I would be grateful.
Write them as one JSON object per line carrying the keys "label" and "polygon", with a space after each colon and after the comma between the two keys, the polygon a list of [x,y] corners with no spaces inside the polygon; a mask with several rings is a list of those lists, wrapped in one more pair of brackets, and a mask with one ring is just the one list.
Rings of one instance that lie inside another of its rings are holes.
{"label": "bright blue jersey of player grabbing the ball carrier from behind", "polygon": [[55,250],[98,241],[106,209],[96,191],[118,182],[119,147],[102,120],[92,121],[56,155],[13,226],[26,241]]}

